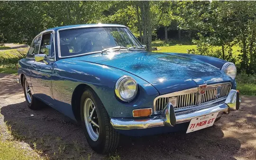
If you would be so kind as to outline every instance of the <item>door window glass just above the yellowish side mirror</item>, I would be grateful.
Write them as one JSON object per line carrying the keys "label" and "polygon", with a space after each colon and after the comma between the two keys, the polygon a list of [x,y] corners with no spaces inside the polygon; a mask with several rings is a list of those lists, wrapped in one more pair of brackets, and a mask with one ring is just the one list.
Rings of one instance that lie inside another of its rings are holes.
{"label": "door window glass just above the yellowish side mirror", "polygon": [[49,58],[54,58],[53,34],[43,34],[40,54],[46,54]]}

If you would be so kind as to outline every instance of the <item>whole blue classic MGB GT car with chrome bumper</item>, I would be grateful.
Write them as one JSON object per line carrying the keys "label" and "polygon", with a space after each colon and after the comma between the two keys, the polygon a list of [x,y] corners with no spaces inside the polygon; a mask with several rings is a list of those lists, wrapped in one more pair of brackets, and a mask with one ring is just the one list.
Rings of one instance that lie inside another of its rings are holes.
{"label": "whole blue classic MGB GT car with chrome bumper", "polygon": [[236,67],[213,57],[153,53],[124,25],[70,25],[38,34],[18,61],[27,105],[40,102],[80,122],[99,153],[119,134],[149,135],[212,126],[239,109]]}

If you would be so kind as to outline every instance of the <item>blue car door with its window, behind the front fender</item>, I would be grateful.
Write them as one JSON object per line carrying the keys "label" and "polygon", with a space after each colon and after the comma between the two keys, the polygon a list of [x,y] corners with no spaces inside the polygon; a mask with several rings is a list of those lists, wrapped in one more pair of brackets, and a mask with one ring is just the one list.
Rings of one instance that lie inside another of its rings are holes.
{"label": "blue car door with its window, behind the front fender", "polygon": [[35,61],[31,71],[31,84],[34,96],[53,104],[52,71],[55,64],[54,34],[47,32],[42,35],[39,54],[46,54],[46,59]]}

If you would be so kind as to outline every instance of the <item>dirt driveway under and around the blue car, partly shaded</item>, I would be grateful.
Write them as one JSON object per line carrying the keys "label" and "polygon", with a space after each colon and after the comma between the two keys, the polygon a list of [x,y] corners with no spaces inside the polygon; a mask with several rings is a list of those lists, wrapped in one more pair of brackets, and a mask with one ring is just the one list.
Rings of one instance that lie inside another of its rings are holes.
{"label": "dirt driveway under and around the blue car, partly shaded", "polygon": [[243,96],[239,111],[197,132],[121,136],[117,152],[110,157],[93,152],[81,126],[58,111],[28,109],[16,77],[0,74],[1,135],[9,136],[4,129],[7,123],[24,148],[35,150],[36,143],[40,155],[49,159],[114,160],[119,155],[121,160],[256,160],[256,97]]}

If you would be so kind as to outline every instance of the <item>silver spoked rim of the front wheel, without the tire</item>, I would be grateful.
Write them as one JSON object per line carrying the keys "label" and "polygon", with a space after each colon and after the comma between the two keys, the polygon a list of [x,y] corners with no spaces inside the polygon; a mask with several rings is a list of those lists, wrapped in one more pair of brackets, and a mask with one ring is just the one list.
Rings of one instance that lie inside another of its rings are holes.
{"label": "silver spoked rim of the front wheel, without the tire", "polygon": [[100,125],[96,107],[90,98],[83,105],[84,123],[92,141],[97,141],[100,133]]}

